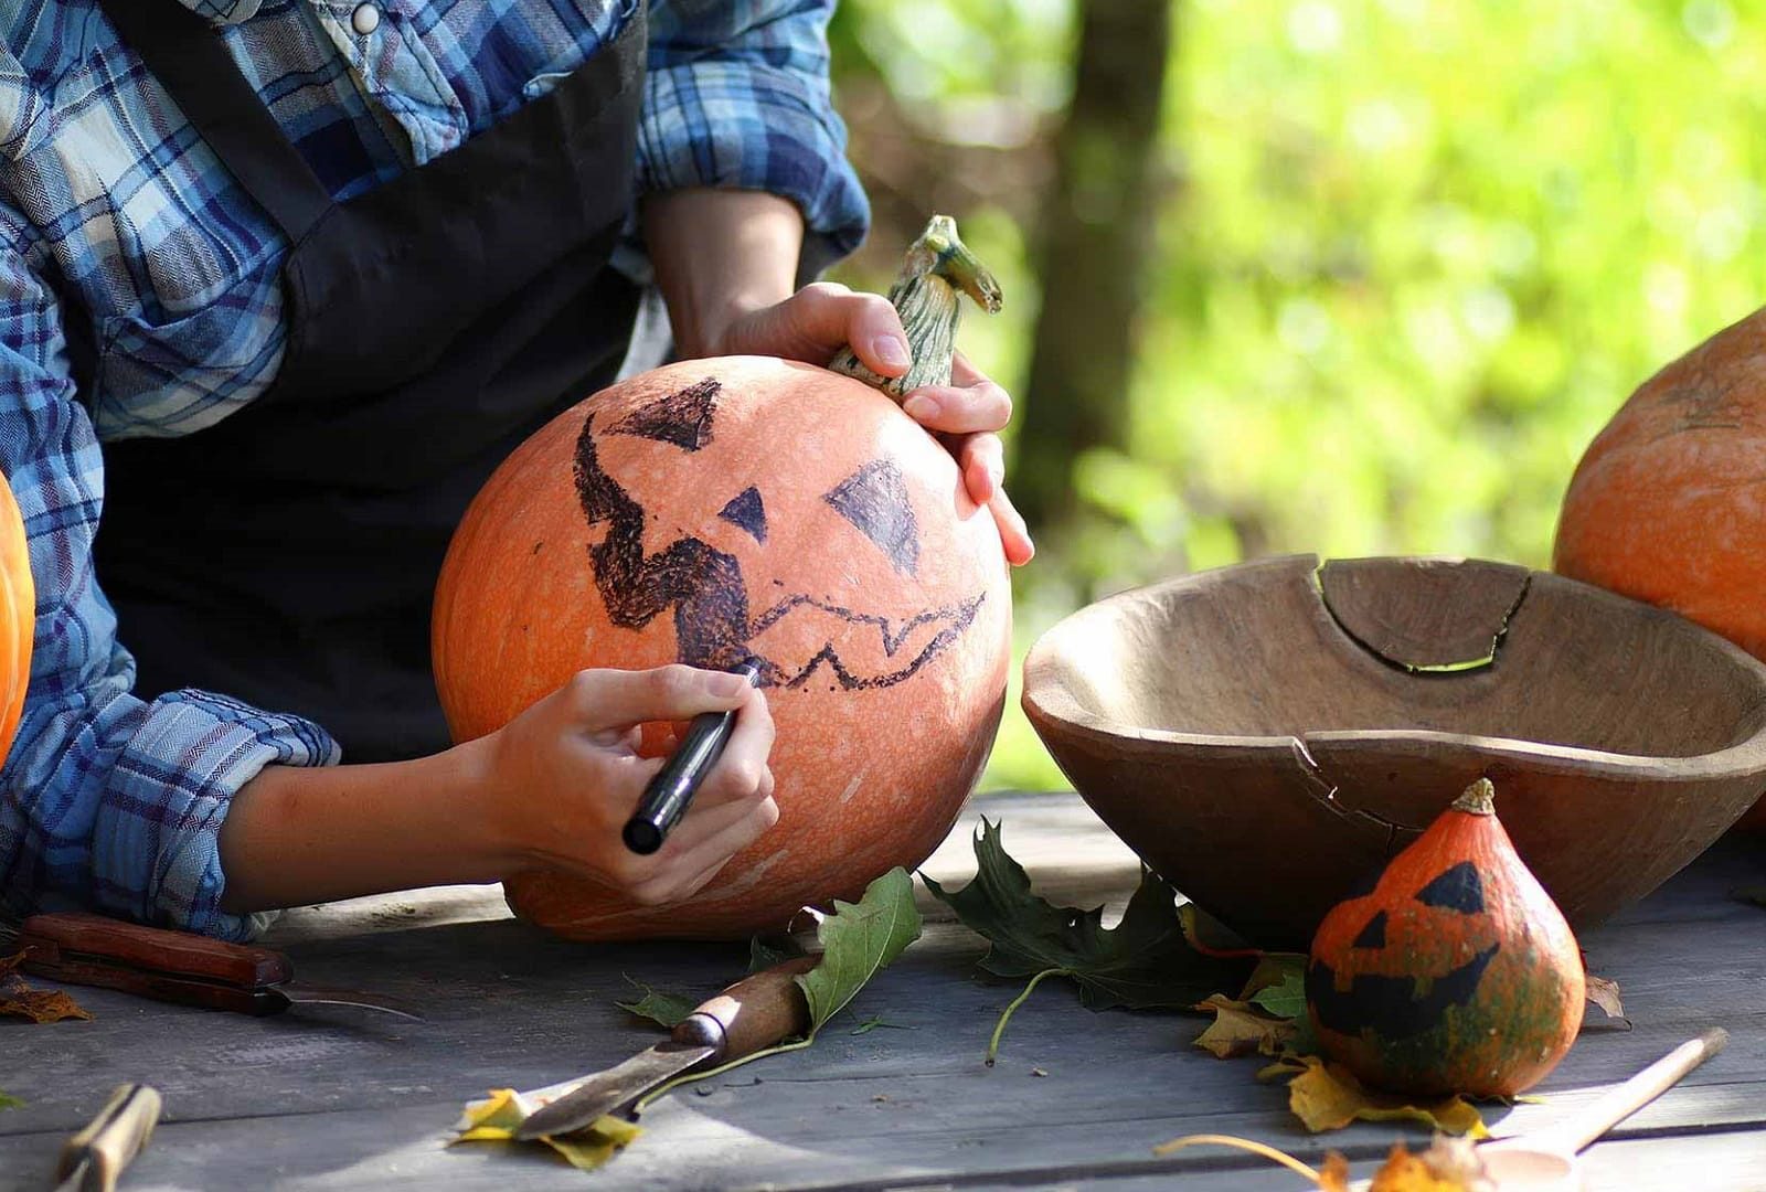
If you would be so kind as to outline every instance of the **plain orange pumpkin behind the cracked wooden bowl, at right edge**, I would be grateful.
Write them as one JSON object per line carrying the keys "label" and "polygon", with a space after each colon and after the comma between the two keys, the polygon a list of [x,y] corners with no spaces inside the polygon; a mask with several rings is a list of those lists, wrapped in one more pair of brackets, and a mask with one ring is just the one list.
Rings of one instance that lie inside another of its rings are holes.
{"label": "plain orange pumpkin behind the cracked wooden bowl, at right edge", "polygon": [[[1582,456],[1554,570],[1766,659],[1766,309],[1632,394]],[[1766,802],[1743,823],[1766,828]]]}

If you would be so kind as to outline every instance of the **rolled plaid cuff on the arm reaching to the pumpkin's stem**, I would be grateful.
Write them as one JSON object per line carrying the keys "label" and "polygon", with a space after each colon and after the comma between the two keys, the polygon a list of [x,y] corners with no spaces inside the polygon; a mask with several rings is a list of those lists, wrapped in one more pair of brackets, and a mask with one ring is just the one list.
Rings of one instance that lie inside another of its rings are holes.
{"label": "rolled plaid cuff on the arm reaching to the pumpkin's stem", "polygon": [[652,69],[638,122],[638,189],[768,191],[804,212],[819,265],[865,238],[871,205],[825,85],[796,71],[701,58]]}

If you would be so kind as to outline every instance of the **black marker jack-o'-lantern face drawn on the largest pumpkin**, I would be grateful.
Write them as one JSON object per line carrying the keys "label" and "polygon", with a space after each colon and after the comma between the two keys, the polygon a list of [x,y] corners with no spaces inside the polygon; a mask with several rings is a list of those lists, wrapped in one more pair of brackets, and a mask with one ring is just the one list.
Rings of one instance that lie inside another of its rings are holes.
{"label": "black marker jack-o'-lantern face drawn on the largest pumpkin", "polygon": [[752,662],[765,687],[858,692],[918,675],[989,593],[950,558],[962,544],[917,514],[917,498],[948,509],[955,473],[927,484],[931,441],[902,422],[777,441],[777,410],[715,376],[597,403],[574,477],[600,533],[590,563],[608,620],[648,630],[671,615],[676,660]]}

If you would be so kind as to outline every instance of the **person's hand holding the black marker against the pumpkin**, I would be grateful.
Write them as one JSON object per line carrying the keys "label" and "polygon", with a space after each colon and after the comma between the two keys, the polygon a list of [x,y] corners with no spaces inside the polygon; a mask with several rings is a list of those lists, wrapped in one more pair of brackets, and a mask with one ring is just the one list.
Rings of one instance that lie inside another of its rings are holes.
{"label": "person's hand holding the black marker against the pumpkin", "polygon": [[[638,754],[638,726],[736,710],[717,766],[660,849],[639,856],[620,830],[660,758]],[[774,722],[742,675],[662,666],[579,671],[493,733],[487,814],[535,867],[602,881],[634,902],[680,902],[779,821],[766,766]]]}

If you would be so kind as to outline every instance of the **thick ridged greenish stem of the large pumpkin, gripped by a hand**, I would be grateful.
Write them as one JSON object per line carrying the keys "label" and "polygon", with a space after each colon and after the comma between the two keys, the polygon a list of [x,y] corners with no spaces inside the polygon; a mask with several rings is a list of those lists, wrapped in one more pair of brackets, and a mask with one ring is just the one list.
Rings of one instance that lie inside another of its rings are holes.
{"label": "thick ridged greenish stem of the large pumpkin, gripped by a hand", "polygon": [[922,385],[948,385],[957,318],[962,313],[957,291],[975,298],[989,314],[1000,313],[1000,283],[957,237],[957,221],[932,215],[920,238],[908,245],[895,284],[888,288],[888,300],[908,332],[908,355],[913,357],[908,373],[878,376],[858,362],[851,348],[842,348],[828,367],[881,389],[897,401]]}

